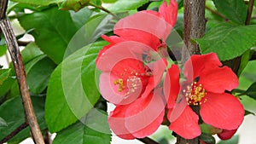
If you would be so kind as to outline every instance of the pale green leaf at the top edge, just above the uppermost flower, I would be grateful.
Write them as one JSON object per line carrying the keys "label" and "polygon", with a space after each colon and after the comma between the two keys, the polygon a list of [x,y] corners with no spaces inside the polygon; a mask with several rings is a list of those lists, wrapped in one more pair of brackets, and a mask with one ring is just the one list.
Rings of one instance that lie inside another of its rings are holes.
{"label": "pale green leaf at the top edge, just above the uppermost flower", "polygon": [[126,11],[137,9],[145,3],[148,3],[148,0],[118,0],[115,3],[109,4],[106,8],[111,12]]}

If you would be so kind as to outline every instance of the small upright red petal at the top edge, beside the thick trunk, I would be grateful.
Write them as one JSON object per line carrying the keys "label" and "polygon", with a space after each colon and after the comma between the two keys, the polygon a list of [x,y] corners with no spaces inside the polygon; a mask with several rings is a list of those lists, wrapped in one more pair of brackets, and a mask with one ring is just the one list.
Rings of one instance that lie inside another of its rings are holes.
{"label": "small upright red petal at the top edge, beside the thick trunk", "polygon": [[166,0],[160,5],[159,13],[164,19],[173,27],[177,20],[177,3],[175,0],[171,0],[169,6],[167,6]]}

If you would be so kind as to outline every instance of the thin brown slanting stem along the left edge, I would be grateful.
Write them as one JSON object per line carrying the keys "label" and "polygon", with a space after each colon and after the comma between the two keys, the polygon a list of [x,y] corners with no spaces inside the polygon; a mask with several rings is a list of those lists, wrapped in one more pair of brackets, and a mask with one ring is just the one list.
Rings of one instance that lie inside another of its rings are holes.
{"label": "thin brown slanting stem along the left edge", "polygon": [[[1,7],[4,7],[2,4],[5,3],[5,9],[7,7],[8,0],[0,0]],[[4,8],[1,9],[0,15],[3,16],[5,14]],[[39,129],[37,117],[32,107],[32,100],[29,94],[29,90],[26,84],[26,72],[24,70],[24,65],[21,60],[20,49],[15,37],[15,33],[13,32],[12,26],[9,20],[3,19],[2,17],[0,21],[0,27],[2,29],[3,35],[5,37],[5,41],[7,43],[7,47],[9,53],[11,55],[11,59],[15,66],[15,73],[17,77],[17,81],[19,84],[20,95],[25,111],[26,123],[30,126],[32,130],[32,137],[35,138],[35,143],[37,144],[44,144],[44,138]]]}

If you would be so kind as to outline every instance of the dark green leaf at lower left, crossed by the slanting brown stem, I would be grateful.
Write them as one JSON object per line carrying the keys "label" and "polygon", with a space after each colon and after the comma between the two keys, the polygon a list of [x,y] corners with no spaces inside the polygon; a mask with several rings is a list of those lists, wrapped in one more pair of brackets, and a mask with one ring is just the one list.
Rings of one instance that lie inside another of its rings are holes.
{"label": "dark green leaf at lower left, crossed by the slanting brown stem", "polygon": [[[46,124],[44,123],[44,97],[32,96],[32,104],[34,111],[36,112],[38,124],[41,130],[45,130]],[[17,129],[21,124],[25,122],[24,110],[20,96],[16,96],[9,101],[5,101],[3,105],[0,106],[0,117],[3,118],[8,124],[7,127],[0,127],[0,140],[2,140],[3,137],[9,135],[13,130]],[[15,135],[15,137],[9,141],[22,141],[27,137],[30,137],[30,129],[28,127],[24,130],[21,130],[18,135]]]}

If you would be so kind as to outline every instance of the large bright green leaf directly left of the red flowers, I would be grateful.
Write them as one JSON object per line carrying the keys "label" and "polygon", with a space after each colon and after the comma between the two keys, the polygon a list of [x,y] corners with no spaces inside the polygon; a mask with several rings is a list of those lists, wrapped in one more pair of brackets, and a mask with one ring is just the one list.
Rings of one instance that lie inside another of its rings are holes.
{"label": "large bright green leaf directly left of the red flowers", "polygon": [[79,49],[57,66],[49,79],[45,118],[50,132],[60,131],[90,111],[100,94],[96,87],[95,60],[106,42]]}

